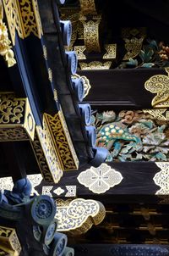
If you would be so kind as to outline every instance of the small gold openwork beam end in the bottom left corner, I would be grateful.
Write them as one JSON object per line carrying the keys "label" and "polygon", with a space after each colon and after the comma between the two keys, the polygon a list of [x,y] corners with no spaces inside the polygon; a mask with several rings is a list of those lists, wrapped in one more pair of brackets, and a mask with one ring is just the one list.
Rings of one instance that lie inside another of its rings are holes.
{"label": "small gold openwork beam end in the bottom left corner", "polygon": [[[5,254],[1,254],[1,251]],[[19,255],[21,246],[14,228],[0,226],[0,255]]]}

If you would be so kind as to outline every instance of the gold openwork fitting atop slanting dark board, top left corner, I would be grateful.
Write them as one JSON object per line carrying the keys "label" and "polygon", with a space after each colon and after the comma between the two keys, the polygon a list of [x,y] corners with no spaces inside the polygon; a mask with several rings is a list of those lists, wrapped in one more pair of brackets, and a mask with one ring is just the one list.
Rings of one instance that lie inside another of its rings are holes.
{"label": "gold openwork fitting atop slanting dark board, top left corner", "polygon": [[13,45],[16,31],[21,38],[30,36],[30,33],[41,38],[43,33],[37,0],[3,0],[3,6]]}

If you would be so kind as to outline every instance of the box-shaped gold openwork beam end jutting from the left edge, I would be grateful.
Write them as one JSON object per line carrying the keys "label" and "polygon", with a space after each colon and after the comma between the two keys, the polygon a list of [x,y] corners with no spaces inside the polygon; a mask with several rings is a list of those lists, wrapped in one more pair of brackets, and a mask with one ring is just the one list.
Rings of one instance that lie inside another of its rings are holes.
{"label": "box-shaped gold openwork beam end jutting from the left edge", "polygon": [[0,141],[33,140],[35,120],[27,98],[0,94]]}

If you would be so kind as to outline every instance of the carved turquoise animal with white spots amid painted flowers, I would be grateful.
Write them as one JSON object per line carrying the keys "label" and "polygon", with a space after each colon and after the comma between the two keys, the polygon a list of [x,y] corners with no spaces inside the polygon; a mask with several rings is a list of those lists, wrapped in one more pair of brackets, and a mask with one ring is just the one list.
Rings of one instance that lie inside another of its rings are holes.
{"label": "carved turquoise animal with white spots amid painted flowers", "polygon": [[113,156],[117,155],[120,151],[121,143],[120,140],[128,142],[134,142],[134,144],[141,146],[142,142],[138,136],[134,136],[129,133],[127,128],[122,128],[113,123],[103,125],[97,135],[97,143],[104,143],[106,148],[110,150],[114,146]]}

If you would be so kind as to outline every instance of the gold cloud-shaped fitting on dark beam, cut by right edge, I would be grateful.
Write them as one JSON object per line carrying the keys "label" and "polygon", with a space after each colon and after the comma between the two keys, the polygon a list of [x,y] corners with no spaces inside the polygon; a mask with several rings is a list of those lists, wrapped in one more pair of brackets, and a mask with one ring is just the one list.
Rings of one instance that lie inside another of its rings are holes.
{"label": "gold cloud-shaped fitting on dark beam, cut by right edge", "polygon": [[[169,69],[166,68],[165,70],[168,75]],[[144,83],[147,91],[156,93],[156,96],[151,102],[154,108],[169,107],[169,76],[167,75],[153,75]]]}

